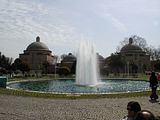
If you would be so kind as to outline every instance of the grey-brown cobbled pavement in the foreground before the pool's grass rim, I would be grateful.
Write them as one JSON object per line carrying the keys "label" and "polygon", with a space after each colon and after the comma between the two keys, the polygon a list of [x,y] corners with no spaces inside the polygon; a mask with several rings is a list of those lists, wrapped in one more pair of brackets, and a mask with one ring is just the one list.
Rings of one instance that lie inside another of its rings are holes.
{"label": "grey-brown cobbled pavement in the foreground before the pool's grass rim", "polygon": [[120,120],[131,100],[160,115],[160,104],[148,97],[63,100],[0,94],[0,120]]}

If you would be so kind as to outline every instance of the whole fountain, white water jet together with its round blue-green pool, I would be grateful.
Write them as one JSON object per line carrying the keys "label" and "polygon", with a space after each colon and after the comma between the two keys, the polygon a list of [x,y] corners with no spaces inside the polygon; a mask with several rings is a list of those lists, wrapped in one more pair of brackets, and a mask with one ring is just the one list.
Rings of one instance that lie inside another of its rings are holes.
{"label": "whole fountain, white water jet together with its round blue-green pool", "polygon": [[113,93],[145,91],[149,82],[143,80],[104,79],[99,84],[97,54],[95,46],[90,41],[82,41],[77,52],[77,67],[75,79],[36,80],[9,83],[7,88],[54,92],[54,93]]}

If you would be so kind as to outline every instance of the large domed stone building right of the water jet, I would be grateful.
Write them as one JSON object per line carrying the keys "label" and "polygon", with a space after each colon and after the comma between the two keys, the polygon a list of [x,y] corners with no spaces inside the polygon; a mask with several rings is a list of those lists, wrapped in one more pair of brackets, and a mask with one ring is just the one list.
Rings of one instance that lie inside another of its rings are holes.
{"label": "large domed stone building right of the water jet", "polygon": [[129,38],[129,44],[121,48],[120,54],[125,58],[128,72],[144,72],[150,68],[150,56],[139,46],[133,44],[133,39]]}

